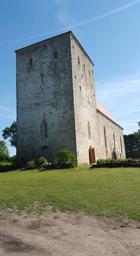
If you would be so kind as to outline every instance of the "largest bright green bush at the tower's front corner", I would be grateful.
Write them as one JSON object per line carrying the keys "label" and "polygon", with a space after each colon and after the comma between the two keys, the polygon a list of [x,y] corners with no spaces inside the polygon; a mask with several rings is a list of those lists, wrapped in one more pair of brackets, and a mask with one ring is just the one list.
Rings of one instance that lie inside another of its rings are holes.
{"label": "largest bright green bush at the tower's front corner", "polygon": [[71,163],[72,168],[76,167],[78,164],[75,154],[66,149],[62,149],[59,152],[58,157],[55,158],[55,163]]}

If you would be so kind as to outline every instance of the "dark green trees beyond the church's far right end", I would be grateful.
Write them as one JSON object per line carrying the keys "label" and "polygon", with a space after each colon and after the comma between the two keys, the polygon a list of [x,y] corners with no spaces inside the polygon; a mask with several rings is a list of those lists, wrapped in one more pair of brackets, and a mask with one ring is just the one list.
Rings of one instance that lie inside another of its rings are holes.
{"label": "dark green trees beyond the church's far right end", "polygon": [[[140,127],[140,121],[138,122]],[[140,158],[140,129],[128,135],[124,135],[126,158]]]}

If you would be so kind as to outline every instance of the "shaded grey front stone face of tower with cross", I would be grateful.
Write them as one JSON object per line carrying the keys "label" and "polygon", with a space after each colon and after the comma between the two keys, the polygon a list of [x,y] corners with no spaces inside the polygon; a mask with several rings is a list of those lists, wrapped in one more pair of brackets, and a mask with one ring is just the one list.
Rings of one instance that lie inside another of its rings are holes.
{"label": "shaded grey front stone face of tower with cross", "polygon": [[52,162],[61,149],[76,155],[69,34],[18,50],[16,87],[17,157]]}

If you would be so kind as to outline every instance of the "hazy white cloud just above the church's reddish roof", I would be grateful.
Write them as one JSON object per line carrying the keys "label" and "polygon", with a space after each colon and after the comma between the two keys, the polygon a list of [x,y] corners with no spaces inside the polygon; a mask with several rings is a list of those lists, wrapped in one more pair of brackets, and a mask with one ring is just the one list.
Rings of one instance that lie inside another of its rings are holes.
{"label": "hazy white cloud just above the church's reddish roof", "polygon": [[140,120],[140,73],[96,82],[96,98],[114,119],[132,133]]}

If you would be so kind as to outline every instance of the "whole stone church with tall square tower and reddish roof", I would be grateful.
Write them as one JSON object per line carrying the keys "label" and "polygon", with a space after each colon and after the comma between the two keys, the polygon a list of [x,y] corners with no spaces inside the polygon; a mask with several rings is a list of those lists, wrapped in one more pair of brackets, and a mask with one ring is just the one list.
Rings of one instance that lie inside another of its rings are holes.
{"label": "whole stone church with tall square tower and reddish roof", "polygon": [[125,158],[123,128],[96,102],[94,64],[71,31],[16,50],[17,157],[61,149],[79,165]]}

